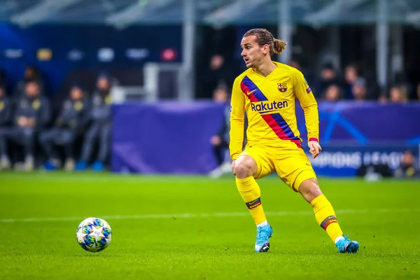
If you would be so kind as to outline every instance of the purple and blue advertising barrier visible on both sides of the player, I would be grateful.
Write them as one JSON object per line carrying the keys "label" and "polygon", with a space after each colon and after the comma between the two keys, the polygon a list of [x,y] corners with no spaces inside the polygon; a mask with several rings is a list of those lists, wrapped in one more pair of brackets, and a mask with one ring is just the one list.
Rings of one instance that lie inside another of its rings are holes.
{"label": "purple and blue advertising barrier visible on both sides of the player", "polygon": [[[210,138],[224,109],[213,102],[114,106],[113,172],[207,174],[216,167]],[[305,144],[299,105],[296,111]],[[323,157],[313,165],[319,174],[353,176],[362,162],[377,157],[395,165],[405,148],[420,144],[420,103],[320,102],[318,111]]]}

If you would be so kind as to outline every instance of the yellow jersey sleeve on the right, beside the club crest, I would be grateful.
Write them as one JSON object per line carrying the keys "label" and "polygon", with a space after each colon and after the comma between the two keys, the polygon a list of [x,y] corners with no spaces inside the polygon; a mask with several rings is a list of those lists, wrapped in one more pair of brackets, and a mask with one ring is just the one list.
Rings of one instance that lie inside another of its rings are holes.
{"label": "yellow jersey sleeve on the right, beside the club crest", "polygon": [[294,90],[300,106],[304,111],[304,120],[308,131],[308,141],[319,141],[318,104],[311,87],[309,87],[302,72],[295,72]]}

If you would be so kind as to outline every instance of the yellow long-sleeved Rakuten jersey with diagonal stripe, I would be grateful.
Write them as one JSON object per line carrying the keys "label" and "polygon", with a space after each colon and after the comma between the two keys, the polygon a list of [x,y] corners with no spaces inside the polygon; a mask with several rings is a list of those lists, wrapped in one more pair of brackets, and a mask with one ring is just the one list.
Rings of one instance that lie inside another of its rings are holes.
{"label": "yellow long-sleeved Rakuten jersey with diagonal stripe", "polygon": [[297,130],[295,98],[304,109],[309,141],[318,141],[318,104],[303,74],[286,64],[267,77],[247,69],[232,87],[230,113],[230,157],[242,152],[244,113],[248,118],[247,146],[302,148]]}

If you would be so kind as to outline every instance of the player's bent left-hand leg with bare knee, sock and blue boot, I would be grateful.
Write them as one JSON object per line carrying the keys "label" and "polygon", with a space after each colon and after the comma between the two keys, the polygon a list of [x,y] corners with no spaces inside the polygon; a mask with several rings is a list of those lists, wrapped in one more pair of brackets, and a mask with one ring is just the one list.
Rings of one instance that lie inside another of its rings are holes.
{"label": "player's bent left-hand leg with bare knee, sock and blue boot", "polygon": [[266,158],[262,151],[258,151],[256,148],[247,148],[235,160],[237,188],[257,225],[255,240],[255,251],[257,252],[268,251],[269,237],[273,232],[262,208],[260,186],[255,180],[274,171],[274,166]]}

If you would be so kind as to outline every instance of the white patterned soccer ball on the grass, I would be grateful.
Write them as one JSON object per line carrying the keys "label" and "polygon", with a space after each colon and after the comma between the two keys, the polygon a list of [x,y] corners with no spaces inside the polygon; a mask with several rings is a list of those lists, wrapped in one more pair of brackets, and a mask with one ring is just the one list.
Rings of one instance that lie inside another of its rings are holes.
{"label": "white patterned soccer ball on the grass", "polygon": [[99,252],[111,243],[111,227],[102,218],[87,218],[78,226],[76,237],[86,251]]}

